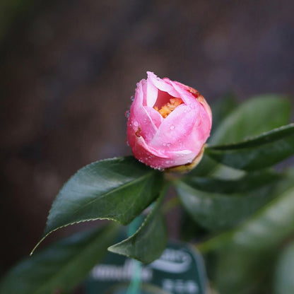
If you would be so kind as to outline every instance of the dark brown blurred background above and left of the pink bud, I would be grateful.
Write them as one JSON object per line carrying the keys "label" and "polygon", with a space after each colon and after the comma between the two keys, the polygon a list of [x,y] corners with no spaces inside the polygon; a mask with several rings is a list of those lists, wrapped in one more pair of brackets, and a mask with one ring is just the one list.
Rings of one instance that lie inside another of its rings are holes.
{"label": "dark brown blurred background above and left of the pink bud", "polygon": [[228,92],[294,98],[293,8],[291,0],[0,0],[0,273],[28,256],[78,168],[131,153],[124,112],[146,71],[208,102]]}

